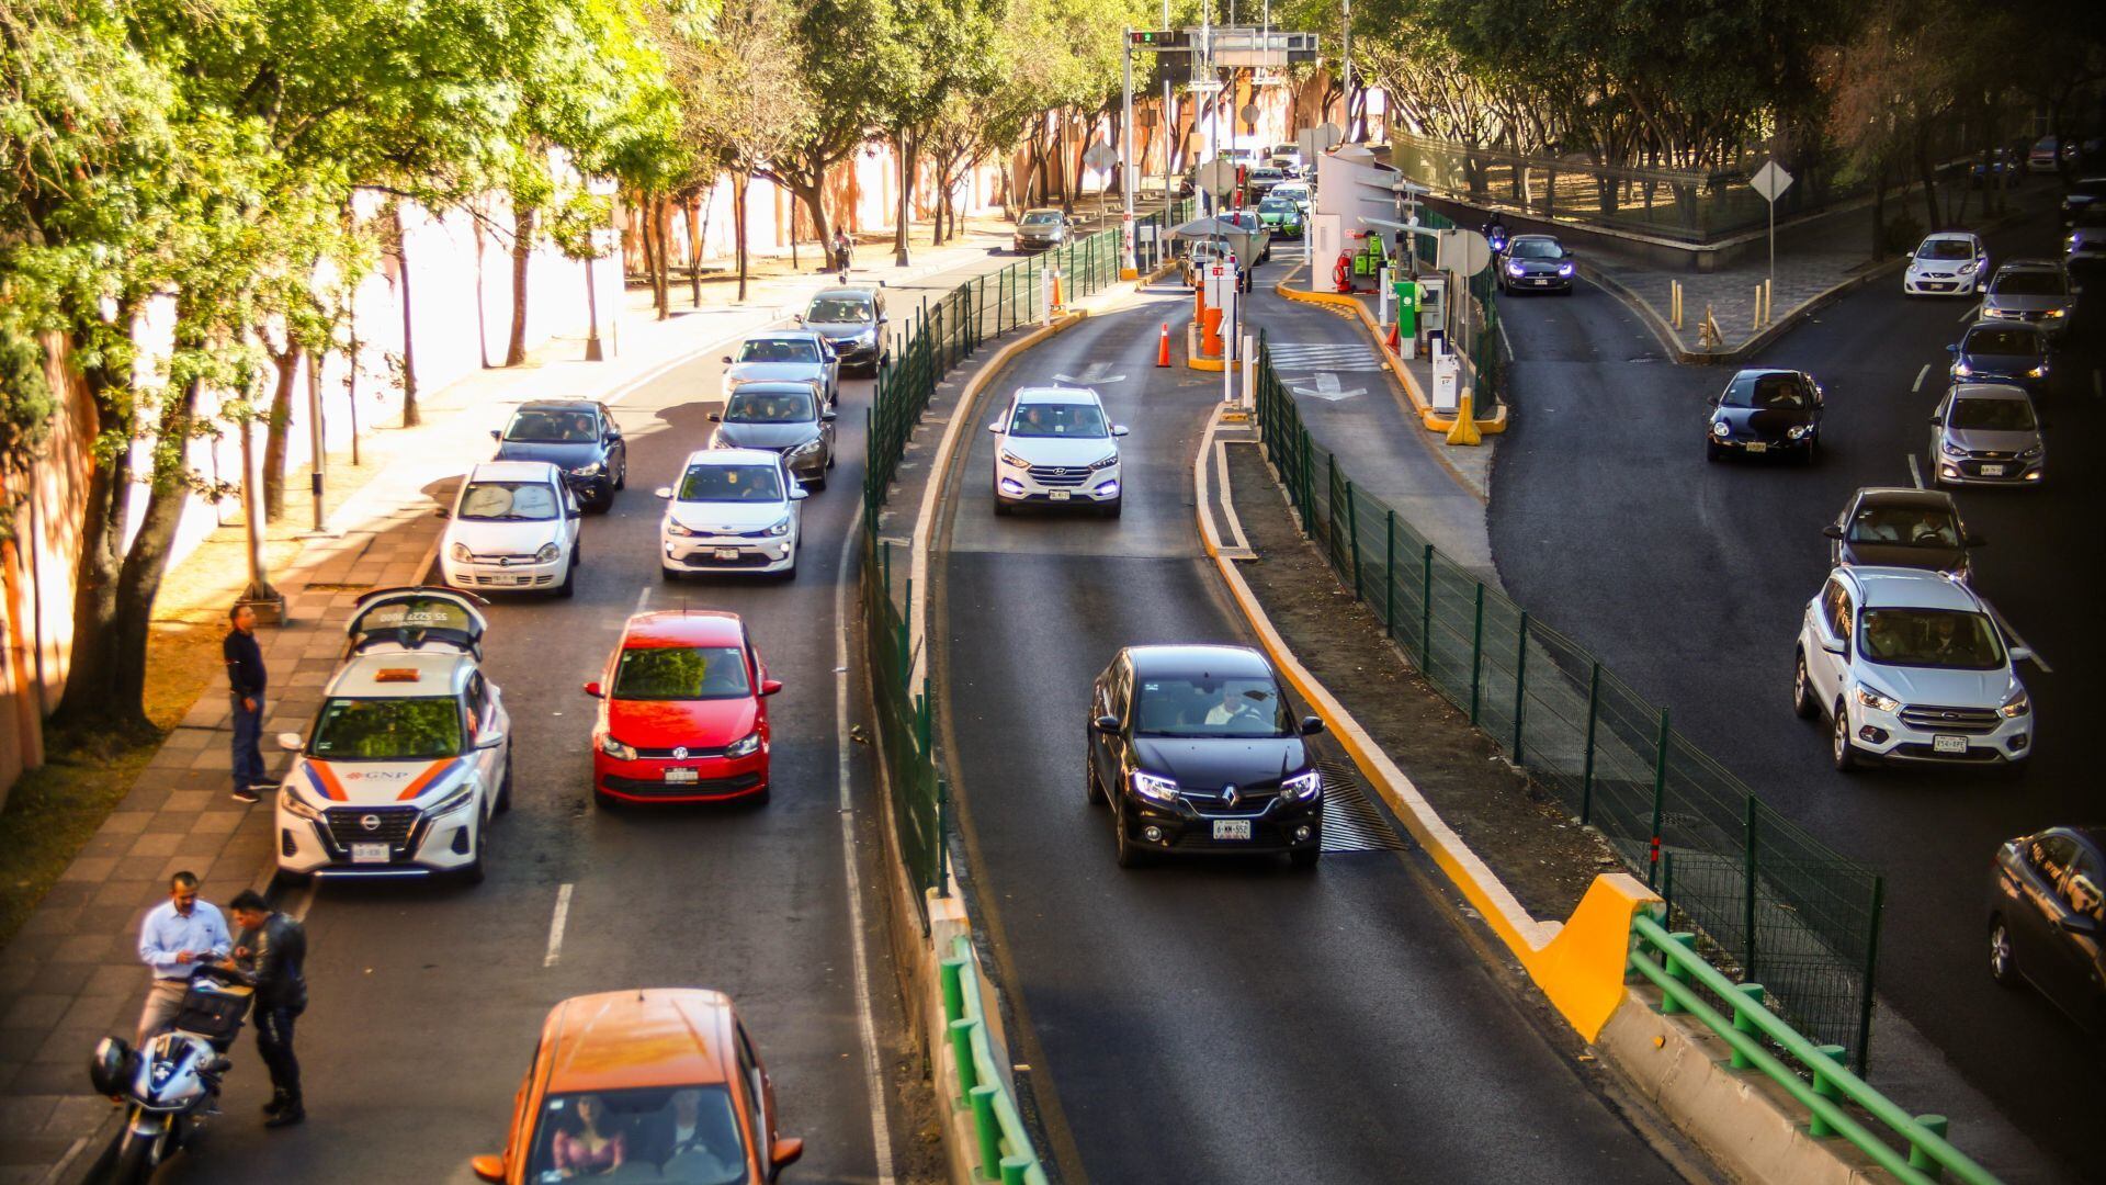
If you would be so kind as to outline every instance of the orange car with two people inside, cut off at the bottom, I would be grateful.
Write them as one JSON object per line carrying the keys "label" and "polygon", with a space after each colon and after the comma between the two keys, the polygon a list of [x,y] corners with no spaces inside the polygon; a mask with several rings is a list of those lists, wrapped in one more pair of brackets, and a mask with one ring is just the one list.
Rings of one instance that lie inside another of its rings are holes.
{"label": "orange car with two people inside, cut off at the bottom", "polygon": [[550,1010],[503,1155],[476,1177],[539,1185],[775,1181],[804,1141],[775,1134],[775,1088],[720,991],[577,995]]}

